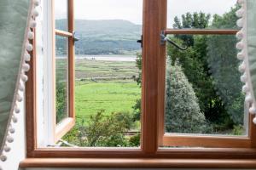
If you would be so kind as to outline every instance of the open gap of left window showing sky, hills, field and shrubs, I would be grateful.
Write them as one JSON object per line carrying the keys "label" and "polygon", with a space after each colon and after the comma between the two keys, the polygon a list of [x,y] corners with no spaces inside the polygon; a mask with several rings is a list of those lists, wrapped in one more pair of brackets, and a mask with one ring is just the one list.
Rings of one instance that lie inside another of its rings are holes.
{"label": "open gap of left window showing sky, hills, field and shrubs", "polygon": [[63,146],[138,147],[143,1],[74,3],[76,125]]}

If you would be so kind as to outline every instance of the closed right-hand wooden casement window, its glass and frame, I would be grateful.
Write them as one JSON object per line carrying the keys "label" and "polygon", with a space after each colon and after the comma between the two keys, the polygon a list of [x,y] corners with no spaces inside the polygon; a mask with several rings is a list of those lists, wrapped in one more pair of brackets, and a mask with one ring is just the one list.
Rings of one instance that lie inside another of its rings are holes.
{"label": "closed right-hand wooden casement window, its glass and frame", "polygon": [[[165,115],[160,116],[160,146],[253,147],[253,116],[241,92],[237,69],[241,62],[236,59],[236,10],[240,7],[236,1],[226,1],[222,8],[211,3],[211,9],[201,8],[204,12],[180,7],[179,11],[188,12],[178,17],[177,5],[168,0],[163,37],[183,49],[171,44],[162,67],[166,101]],[[212,14],[221,10],[224,14]]]}

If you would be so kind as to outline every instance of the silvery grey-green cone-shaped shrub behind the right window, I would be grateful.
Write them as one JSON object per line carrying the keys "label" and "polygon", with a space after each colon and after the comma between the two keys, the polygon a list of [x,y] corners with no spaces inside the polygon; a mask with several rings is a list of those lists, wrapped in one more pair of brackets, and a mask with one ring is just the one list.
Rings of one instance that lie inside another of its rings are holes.
{"label": "silvery grey-green cone-shaped shrub behind the right window", "polygon": [[166,74],[166,132],[204,133],[206,118],[182,68],[171,65]]}

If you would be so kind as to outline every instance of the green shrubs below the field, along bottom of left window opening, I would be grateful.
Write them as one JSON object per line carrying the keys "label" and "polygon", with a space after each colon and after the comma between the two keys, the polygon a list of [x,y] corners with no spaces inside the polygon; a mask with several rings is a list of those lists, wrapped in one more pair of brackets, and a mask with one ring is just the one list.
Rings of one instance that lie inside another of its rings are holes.
{"label": "green shrubs below the field, along bottom of left window opening", "polygon": [[88,122],[76,125],[65,139],[79,146],[125,147],[138,146],[140,136],[125,136],[133,126],[132,116],[128,112],[113,112],[110,115],[98,111],[90,116]]}

